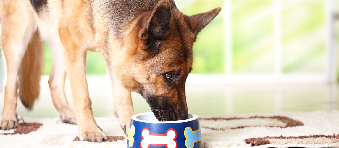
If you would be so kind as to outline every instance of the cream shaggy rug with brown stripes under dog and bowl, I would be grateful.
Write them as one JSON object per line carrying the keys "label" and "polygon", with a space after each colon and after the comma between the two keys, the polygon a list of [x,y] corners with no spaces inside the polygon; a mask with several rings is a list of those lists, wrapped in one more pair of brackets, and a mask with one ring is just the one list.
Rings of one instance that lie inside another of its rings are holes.
{"label": "cream shaggy rug with brown stripes under dog and bowl", "polygon": [[[0,148],[113,147],[126,148],[127,137],[116,117],[96,117],[109,142],[79,141],[76,125],[58,118],[24,117],[17,130],[0,130]],[[252,113],[199,116],[205,148],[209,147],[339,147],[339,111]],[[32,127],[27,133],[25,129]],[[152,148],[152,146],[151,146]]]}

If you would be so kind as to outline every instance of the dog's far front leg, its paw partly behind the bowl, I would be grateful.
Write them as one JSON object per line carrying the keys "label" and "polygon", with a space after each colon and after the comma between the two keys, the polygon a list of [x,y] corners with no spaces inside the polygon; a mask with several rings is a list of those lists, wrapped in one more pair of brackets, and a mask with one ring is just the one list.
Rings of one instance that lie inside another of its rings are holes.
{"label": "dog's far front leg, its paw partly behind the bowl", "polygon": [[119,118],[120,126],[127,136],[131,124],[131,117],[134,115],[131,91],[126,90],[121,85],[114,72],[112,72],[110,65],[107,61],[106,69],[112,81],[115,115]]}

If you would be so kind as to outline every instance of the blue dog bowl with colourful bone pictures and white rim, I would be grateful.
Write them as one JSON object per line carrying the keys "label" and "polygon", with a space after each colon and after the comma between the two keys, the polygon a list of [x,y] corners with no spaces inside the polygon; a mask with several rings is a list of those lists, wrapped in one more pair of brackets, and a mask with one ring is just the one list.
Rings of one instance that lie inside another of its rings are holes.
{"label": "blue dog bowl with colourful bone pictures and white rim", "polygon": [[132,116],[127,148],[158,148],[159,146],[203,148],[198,116],[188,114],[188,119],[166,122],[159,122],[152,112]]}

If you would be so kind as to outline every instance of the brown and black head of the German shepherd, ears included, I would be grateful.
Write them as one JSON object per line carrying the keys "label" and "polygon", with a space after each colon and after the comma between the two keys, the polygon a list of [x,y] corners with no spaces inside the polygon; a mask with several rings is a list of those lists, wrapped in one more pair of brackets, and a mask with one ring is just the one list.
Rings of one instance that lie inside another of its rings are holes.
{"label": "brown and black head of the German shepherd, ears included", "polygon": [[[129,36],[128,65],[123,86],[140,93],[159,121],[188,118],[185,82],[192,70],[193,42],[197,34],[221,11],[185,16],[173,1],[162,0],[140,16]],[[126,72],[125,72],[126,71]],[[123,75],[123,76],[121,76]]]}

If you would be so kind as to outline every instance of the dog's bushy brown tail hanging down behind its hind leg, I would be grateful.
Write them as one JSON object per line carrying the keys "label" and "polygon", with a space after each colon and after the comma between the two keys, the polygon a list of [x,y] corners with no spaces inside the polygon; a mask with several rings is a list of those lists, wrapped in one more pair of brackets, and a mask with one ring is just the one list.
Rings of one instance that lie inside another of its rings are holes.
{"label": "dog's bushy brown tail hanging down behind its hind leg", "polygon": [[22,59],[19,74],[19,96],[22,104],[29,110],[40,93],[40,78],[44,66],[44,44],[36,31],[27,46]]}

